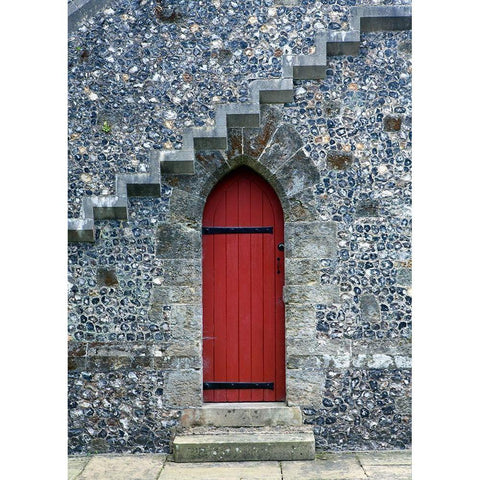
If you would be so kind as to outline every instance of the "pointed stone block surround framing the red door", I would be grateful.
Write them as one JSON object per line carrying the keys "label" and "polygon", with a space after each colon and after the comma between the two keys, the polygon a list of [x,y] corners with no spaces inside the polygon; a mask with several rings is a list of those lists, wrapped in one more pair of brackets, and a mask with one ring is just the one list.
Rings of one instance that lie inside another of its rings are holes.
{"label": "pointed stone block surround framing the red door", "polygon": [[225,153],[199,152],[195,175],[163,178],[172,187],[170,216],[157,233],[165,274],[163,284],[153,287],[151,308],[152,313],[167,310],[170,321],[164,407],[203,404],[202,213],[213,186],[240,165],[269,181],[284,210],[287,403],[315,406],[322,398],[316,305],[335,302],[339,292],[336,285],[322,284],[318,272],[323,259],[336,257],[336,225],[318,218],[318,169],[304,153],[298,133],[279,122],[280,108],[262,107],[260,128],[231,129]]}

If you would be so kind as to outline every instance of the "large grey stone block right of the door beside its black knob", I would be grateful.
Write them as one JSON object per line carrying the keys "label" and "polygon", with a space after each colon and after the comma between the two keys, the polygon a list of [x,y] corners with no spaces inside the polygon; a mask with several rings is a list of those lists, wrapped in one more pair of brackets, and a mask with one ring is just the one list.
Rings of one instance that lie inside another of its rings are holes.
{"label": "large grey stone block right of the door beside its black knob", "polygon": [[333,222],[286,222],[285,254],[296,258],[335,258],[336,234]]}

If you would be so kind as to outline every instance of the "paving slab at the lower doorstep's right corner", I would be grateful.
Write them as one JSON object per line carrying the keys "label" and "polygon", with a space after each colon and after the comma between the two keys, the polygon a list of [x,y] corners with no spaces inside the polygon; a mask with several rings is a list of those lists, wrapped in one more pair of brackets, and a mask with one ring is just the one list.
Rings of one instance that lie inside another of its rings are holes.
{"label": "paving slab at the lower doorstep's right corner", "polygon": [[[354,453],[324,453],[312,461],[282,462],[283,480],[365,480]],[[384,479],[385,480],[385,479]]]}

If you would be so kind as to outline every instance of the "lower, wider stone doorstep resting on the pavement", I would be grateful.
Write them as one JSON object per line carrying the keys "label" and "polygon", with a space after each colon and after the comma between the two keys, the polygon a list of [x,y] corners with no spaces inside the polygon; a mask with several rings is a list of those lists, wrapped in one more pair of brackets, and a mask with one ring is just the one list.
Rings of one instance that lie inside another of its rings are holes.
{"label": "lower, wider stone doorstep resting on the pavement", "polygon": [[179,463],[313,460],[315,438],[312,431],[303,428],[178,435],[173,441],[173,456]]}

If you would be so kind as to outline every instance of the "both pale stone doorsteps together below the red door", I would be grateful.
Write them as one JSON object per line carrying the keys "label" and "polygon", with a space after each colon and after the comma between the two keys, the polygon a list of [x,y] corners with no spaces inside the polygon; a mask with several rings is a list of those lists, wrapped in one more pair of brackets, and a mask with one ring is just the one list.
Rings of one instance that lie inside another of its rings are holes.
{"label": "both pale stone doorsteps together below the red door", "polygon": [[176,462],[313,460],[312,427],[299,407],[217,403],[184,410],[173,440]]}

